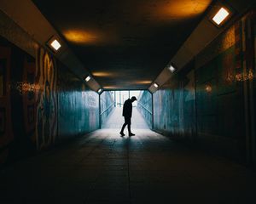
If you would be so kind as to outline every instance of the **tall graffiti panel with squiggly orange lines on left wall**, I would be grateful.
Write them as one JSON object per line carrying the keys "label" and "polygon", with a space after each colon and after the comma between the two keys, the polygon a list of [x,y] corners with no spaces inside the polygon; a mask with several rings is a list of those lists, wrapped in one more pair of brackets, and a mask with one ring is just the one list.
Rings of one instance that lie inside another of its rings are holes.
{"label": "tall graffiti panel with squiggly orange lines on left wall", "polygon": [[55,143],[57,133],[57,95],[55,59],[43,48],[38,48],[36,82],[36,141],[42,150]]}

